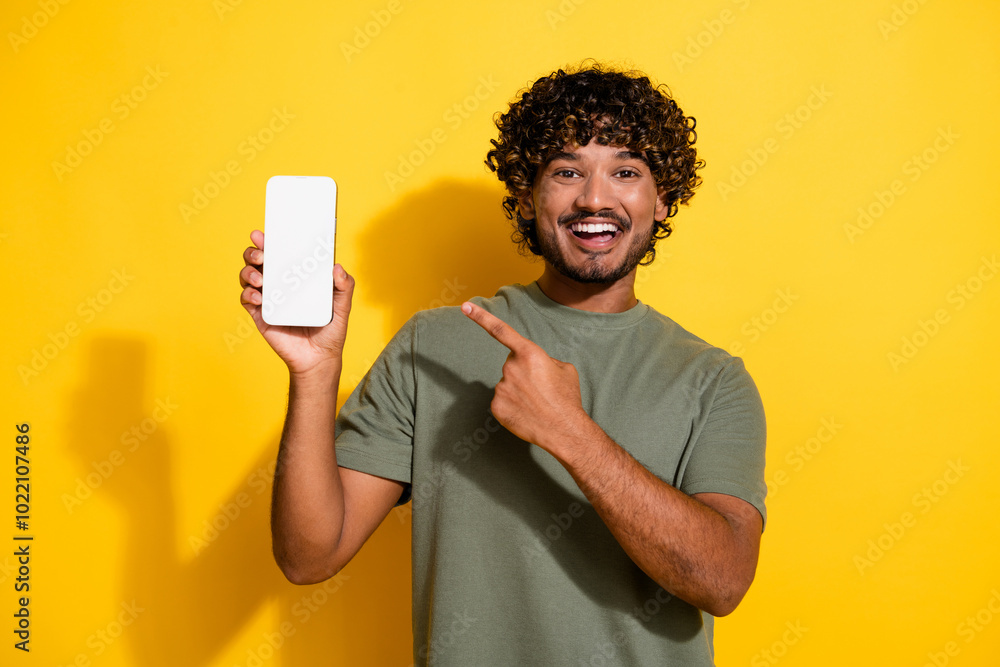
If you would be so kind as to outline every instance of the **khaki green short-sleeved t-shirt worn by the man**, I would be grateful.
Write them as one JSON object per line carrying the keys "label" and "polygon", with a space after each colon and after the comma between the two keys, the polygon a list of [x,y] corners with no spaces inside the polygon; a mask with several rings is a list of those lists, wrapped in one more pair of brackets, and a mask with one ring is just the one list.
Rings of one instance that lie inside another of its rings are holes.
{"label": "khaki green short-sleeved t-shirt worn by the man", "polygon": [[[766,518],[764,411],[743,362],[639,303],[473,301],[580,376],[587,413],[665,482]],[[507,348],[459,308],[417,313],[337,420],[339,465],[410,486],[417,665],[713,664],[712,619],[629,558],[565,468],[493,418]]]}

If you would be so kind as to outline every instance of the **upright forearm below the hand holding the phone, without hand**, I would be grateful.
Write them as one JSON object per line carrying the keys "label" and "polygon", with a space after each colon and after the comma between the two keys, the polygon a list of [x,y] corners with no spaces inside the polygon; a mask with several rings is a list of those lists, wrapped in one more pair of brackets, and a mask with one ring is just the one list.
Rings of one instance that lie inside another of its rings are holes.
{"label": "upright forearm below the hand holding the phone, without hand", "polygon": [[340,366],[289,379],[271,499],[275,560],[290,581],[325,579],[344,526],[344,490],[334,450]]}

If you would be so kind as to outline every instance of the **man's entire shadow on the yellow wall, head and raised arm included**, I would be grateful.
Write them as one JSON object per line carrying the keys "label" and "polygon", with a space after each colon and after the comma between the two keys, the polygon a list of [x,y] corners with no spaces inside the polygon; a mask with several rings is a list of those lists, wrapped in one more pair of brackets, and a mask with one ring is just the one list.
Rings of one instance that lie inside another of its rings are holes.
{"label": "man's entire shadow on the yellow wall, head and raised arm included", "polygon": [[[500,196],[495,188],[446,181],[406,195],[368,225],[356,274],[359,288],[386,309],[388,334],[417,310],[492,296],[501,285],[537,278],[541,264],[517,254]],[[198,434],[177,434],[167,422],[141,440],[121,440],[133,426],[152,423],[157,406],[147,398],[154,384],[147,369],[153,342],[92,340],[84,380],[67,411],[67,442],[81,472],[113,450],[124,457],[94,494],[118,506],[127,531],[125,553],[107,559],[122,563],[116,595],[142,610],[122,633],[129,663],[212,664],[272,605],[277,626],[241,640],[233,664],[411,664],[408,506],[391,512],[334,579],[288,583],[272,559],[269,526],[280,428],[252,443],[264,454],[236,477],[217,511],[184,537],[178,552],[171,445]],[[237,445],[184,443],[186,451],[220,446]],[[61,657],[66,664],[74,659]]]}

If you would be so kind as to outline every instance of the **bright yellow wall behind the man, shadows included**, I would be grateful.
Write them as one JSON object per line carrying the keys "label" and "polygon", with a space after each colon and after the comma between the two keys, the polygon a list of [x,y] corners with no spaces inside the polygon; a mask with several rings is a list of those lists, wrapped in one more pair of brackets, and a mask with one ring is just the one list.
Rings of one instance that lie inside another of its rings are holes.
{"label": "bright yellow wall behind the man, shadows included", "polygon": [[[247,328],[241,253],[269,176],[337,180],[337,258],[358,281],[343,400],[413,311],[540,272],[482,163],[491,117],[594,57],[667,83],[698,120],[704,185],[639,296],[738,349],[767,409],[770,520],[750,593],[717,624],[718,663],[996,664],[995,3],[12,0],[0,14],[0,663],[411,663],[405,509],[325,589],[271,560],[262,480],[287,373]],[[390,186],[401,162],[412,174]],[[859,208],[879,215],[857,227]],[[28,655],[11,633],[22,422]]]}

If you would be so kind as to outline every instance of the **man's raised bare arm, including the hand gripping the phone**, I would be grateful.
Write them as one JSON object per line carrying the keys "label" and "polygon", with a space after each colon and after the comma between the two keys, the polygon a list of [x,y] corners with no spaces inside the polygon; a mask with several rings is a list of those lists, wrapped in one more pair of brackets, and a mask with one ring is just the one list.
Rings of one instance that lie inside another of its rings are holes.
{"label": "man's raised bare arm, including the hand gripping the phone", "polygon": [[354,279],[333,270],[333,319],[324,327],[270,326],[262,316],[264,234],[243,252],[240,303],[288,366],[288,412],[271,499],[275,560],[289,581],[317,583],[340,571],[399,499],[404,485],[340,468],[334,449],[337,387]]}

